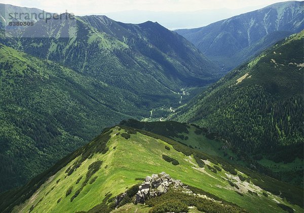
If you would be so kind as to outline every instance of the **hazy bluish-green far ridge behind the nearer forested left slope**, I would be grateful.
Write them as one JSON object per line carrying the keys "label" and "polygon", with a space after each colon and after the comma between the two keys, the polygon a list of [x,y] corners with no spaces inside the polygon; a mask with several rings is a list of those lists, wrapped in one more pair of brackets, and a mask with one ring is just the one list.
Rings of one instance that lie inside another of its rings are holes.
{"label": "hazy bluish-green far ridge behind the nearer forested left slope", "polygon": [[75,16],[9,32],[15,38],[3,39],[3,44],[128,91],[148,94],[147,84],[156,83],[180,92],[182,87],[205,86],[219,75],[217,65],[194,45],[157,22],[124,24],[106,16]]}

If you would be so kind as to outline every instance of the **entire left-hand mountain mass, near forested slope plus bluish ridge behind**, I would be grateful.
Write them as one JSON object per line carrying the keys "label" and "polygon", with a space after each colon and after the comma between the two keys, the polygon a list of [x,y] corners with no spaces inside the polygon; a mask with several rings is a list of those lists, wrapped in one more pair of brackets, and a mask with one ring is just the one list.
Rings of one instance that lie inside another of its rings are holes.
{"label": "entire left-hand mountain mass, near forested slope plus bluish ridge behind", "polygon": [[[42,19],[6,28],[0,43],[0,191],[26,183],[106,126],[151,118],[151,110],[166,116],[218,78],[191,43],[153,22]],[[191,95],[181,100],[182,91]]]}

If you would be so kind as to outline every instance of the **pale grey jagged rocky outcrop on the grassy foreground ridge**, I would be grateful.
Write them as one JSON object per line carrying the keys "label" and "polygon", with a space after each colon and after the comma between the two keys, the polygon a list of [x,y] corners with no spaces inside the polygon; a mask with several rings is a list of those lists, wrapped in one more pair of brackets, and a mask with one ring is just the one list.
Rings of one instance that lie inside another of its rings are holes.
{"label": "pale grey jagged rocky outcrop on the grassy foreground ridge", "polygon": [[[181,188],[183,183],[180,180],[174,180],[162,172],[158,175],[147,176],[145,182],[139,186],[136,194],[135,203],[145,203],[151,197],[160,196],[166,193],[170,187]],[[184,187],[186,188],[186,187]]]}

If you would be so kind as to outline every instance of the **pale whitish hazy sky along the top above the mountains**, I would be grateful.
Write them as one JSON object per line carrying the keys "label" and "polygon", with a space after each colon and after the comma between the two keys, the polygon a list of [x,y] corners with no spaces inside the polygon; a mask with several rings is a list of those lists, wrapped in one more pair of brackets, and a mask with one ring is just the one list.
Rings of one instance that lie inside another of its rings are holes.
{"label": "pale whitish hazy sky along the top above the mountains", "polygon": [[127,10],[149,11],[198,11],[210,9],[240,9],[267,6],[278,0],[0,0],[0,3],[39,8],[48,12],[62,13],[67,10],[75,15],[101,14]]}

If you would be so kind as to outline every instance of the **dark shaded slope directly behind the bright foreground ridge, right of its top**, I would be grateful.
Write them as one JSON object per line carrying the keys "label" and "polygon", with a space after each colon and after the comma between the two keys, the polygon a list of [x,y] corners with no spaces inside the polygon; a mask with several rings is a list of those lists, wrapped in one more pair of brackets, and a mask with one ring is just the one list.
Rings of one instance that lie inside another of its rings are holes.
{"label": "dark shaded slope directly behind the bright foreground ridge, right of its top", "polygon": [[278,163],[271,160],[261,161],[256,157],[262,157],[262,155],[250,155],[235,149],[232,144],[218,134],[209,133],[208,129],[202,129],[195,124],[189,125],[176,121],[144,122],[134,119],[122,121],[121,124],[168,137],[189,148],[222,158],[233,165],[251,168],[258,173],[291,185],[299,186],[299,183],[301,183],[302,160],[290,163]]}

